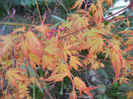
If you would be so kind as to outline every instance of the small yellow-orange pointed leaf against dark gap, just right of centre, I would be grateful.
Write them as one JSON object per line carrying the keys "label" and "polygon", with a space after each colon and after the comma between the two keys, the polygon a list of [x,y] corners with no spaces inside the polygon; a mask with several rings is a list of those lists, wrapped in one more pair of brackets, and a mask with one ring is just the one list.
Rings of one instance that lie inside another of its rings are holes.
{"label": "small yellow-orange pointed leaf against dark gap, just right of centre", "polygon": [[78,70],[78,65],[83,67],[83,65],[79,62],[79,59],[76,56],[71,56],[69,61],[70,68],[74,68]]}

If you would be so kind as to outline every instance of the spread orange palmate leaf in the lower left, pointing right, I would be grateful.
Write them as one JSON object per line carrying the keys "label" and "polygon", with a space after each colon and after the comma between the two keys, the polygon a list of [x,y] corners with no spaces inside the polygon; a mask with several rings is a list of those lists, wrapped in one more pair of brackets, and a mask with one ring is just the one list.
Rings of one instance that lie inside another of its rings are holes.
{"label": "spread orange palmate leaf in the lower left, pointing right", "polygon": [[27,81],[27,79],[21,73],[25,72],[21,69],[10,68],[6,72],[6,78],[10,81],[11,84],[13,84],[15,87],[18,87],[16,81],[21,81],[21,82]]}

